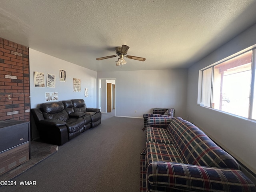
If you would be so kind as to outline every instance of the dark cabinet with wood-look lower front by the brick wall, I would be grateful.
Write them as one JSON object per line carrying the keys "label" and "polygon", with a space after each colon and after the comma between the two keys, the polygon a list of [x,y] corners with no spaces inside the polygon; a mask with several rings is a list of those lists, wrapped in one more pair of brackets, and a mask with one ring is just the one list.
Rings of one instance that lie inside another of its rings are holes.
{"label": "dark cabinet with wood-look lower front by the brick wall", "polygon": [[30,156],[30,122],[0,121],[0,174],[23,164]]}

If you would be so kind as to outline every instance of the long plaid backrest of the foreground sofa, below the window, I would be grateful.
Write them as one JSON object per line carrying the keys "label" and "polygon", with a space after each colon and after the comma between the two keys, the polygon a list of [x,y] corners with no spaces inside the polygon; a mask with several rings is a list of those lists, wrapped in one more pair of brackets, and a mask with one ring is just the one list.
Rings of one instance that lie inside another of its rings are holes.
{"label": "long plaid backrest of the foreground sofa, below the window", "polygon": [[186,164],[239,169],[238,162],[194,124],[182,118],[173,118],[168,131]]}

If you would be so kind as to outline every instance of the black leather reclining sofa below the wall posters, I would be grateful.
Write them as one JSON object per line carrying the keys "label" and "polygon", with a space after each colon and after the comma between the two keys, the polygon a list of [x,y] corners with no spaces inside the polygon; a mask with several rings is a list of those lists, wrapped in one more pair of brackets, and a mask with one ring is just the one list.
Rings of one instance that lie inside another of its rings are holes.
{"label": "black leather reclining sofa below the wall posters", "polygon": [[100,109],[87,108],[83,99],[42,103],[31,112],[40,139],[55,145],[101,124]]}

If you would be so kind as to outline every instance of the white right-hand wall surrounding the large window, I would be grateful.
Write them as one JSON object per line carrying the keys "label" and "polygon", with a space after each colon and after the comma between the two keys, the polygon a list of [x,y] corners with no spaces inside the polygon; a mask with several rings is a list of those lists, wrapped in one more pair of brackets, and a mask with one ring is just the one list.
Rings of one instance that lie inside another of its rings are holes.
{"label": "white right-hand wall surrounding the large window", "polygon": [[256,44],[256,25],[188,69],[187,113],[220,146],[256,173],[256,122],[197,104],[199,70]]}

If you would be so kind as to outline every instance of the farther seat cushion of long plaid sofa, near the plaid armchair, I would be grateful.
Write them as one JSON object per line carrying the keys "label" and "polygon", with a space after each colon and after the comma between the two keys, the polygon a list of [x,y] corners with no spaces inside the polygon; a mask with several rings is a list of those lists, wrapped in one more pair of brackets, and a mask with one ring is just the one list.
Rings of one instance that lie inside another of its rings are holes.
{"label": "farther seat cushion of long plaid sofa, near the plaid armchair", "polygon": [[158,143],[172,144],[172,140],[165,128],[147,127],[146,128],[147,141],[154,141]]}

